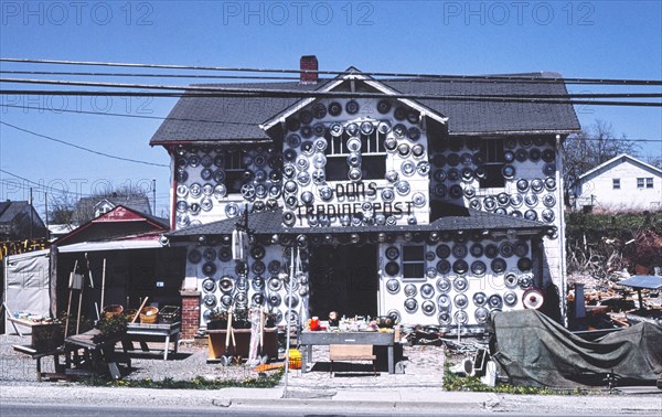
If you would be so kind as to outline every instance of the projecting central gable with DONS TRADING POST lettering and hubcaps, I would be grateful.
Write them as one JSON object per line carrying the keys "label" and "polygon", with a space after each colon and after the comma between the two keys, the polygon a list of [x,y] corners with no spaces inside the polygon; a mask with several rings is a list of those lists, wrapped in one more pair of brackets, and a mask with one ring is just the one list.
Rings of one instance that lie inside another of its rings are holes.
{"label": "projecting central gable with DONS TRADING POST lettering and hubcaps", "polygon": [[350,67],[265,121],[282,150],[284,224],[428,224],[430,120],[447,121]]}

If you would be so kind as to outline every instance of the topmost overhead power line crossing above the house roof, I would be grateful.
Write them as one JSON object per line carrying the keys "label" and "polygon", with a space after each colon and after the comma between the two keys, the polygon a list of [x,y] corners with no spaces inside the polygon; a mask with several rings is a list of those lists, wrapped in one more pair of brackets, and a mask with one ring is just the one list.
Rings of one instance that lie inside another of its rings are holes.
{"label": "topmost overhead power line crossing above the house roof", "polygon": [[142,63],[111,63],[95,61],[61,61],[61,60],[29,60],[29,58],[0,58],[0,62],[12,62],[21,64],[49,64],[49,65],[85,65],[107,67],[130,68],[159,68],[159,70],[193,70],[216,72],[249,72],[249,73],[275,73],[275,74],[318,74],[318,75],[349,75],[361,74],[378,77],[406,77],[406,78],[436,78],[447,82],[530,82],[530,83],[565,83],[565,84],[613,84],[613,85],[662,85],[660,79],[619,79],[619,78],[565,78],[565,77],[538,77],[524,75],[441,75],[425,73],[388,73],[388,72],[359,72],[356,71],[311,71],[311,70],[284,70],[284,68],[248,68],[248,67],[223,67],[201,65],[168,65],[168,64],[142,64]]}

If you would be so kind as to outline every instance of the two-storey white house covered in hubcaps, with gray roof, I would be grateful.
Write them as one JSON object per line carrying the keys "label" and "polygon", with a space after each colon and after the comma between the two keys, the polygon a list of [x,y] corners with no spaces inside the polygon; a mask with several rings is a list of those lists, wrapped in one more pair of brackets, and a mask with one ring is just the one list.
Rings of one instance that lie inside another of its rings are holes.
{"label": "two-storey white house covered in hubcaps, with gray roof", "polygon": [[[195,330],[231,304],[265,306],[280,324],[338,311],[482,332],[490,311],[524,308],[564,320],[559,170],[562,142],[580,129],[573,106],[462,97],[564,96],[559,74],[449,83],[350,67],[189,93],[150,145],[172,157],[167,244],[188,248],[182,302]],[[246,210],[249,248],[235,260]],[[296,279],[284,280],[292,245]]]}

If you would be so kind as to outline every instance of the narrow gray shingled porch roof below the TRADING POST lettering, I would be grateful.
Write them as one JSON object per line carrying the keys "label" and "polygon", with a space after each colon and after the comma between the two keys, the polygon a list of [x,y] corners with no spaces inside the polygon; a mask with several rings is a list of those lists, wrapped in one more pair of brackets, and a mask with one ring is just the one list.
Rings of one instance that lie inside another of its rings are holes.
{"label": "narrow gray shingled porch roof below the TRADING POST lettering", "polygon": [[[228,235],[235,229],[235,224],[241,218],[226,218],[218,222],[199,226],[186,227],[168,233],[168,237],[182,239],[200,235]],[[433,231],[482,231],[482,229],[527,229],[543,232],[549,227],[541,222],[532,222],[508,215],[485,213],[471,209],[458,207],[455,215],[437,218],[428,225],[414,226],[348,226],[348,227],[285,227],[282,223],[282,209],[261,213],[252,213],[248,216],[248,228],[256,234],[311,234],[311,233],[377,233],[377,232],[433,232]]]}

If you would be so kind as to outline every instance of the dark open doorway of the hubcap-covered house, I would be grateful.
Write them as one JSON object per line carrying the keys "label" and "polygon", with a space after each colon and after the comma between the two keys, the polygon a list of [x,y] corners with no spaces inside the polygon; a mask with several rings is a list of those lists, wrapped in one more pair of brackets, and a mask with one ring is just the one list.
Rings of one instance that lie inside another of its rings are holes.
{"label": "dark open doorway of the hubcap-covered house", "polygon": [[322,245],[310,259],[310,313],[377,316],[377,246]]}

